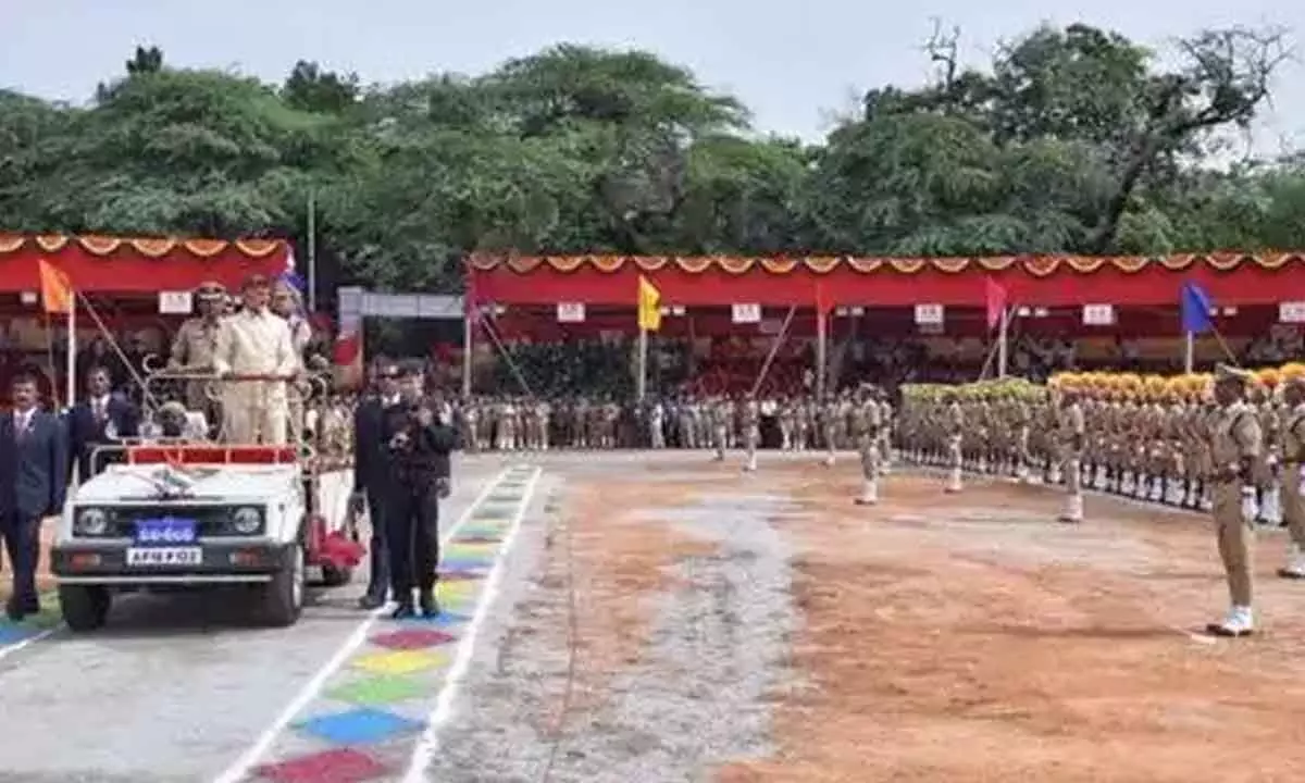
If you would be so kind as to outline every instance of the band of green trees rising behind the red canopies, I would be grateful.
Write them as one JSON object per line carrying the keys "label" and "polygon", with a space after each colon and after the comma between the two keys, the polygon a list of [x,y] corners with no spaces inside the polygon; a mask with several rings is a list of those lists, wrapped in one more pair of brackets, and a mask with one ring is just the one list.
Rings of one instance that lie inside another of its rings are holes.
{"label": "band of green trees rising behind the red canopies", "polygon": [[[560,44],[468,77],[282,85],[137,47],[84,107],[0,91],[0,227],[282,236],[331,283],[458,287],[468,252],[1171,253],[1305,248],[1305,158],[1231,161],[1276,30],[1163,60],[1087,25],[865,93],[821,144],[641,51]],[[312,205],[312,207],[309,206]]]}

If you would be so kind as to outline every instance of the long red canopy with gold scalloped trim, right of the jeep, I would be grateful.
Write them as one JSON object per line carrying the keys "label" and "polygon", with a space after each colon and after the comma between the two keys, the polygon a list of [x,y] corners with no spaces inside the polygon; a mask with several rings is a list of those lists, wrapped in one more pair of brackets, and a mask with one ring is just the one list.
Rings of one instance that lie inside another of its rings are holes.
{"label": "long red canopy with gold scalloped trim, right of the jeep", "polygon": [[[724,333],[774,320],[775,309],[855,311],[874,333],[910,334],[928,324],[947,335],[983,335],[989,292],[1035,316],[1024,328],[1049,333],[1178,335],[1186,283],[1219,305],[1227,334],[1258,334],[1305,320],[1305,253],[1208,253],[1164,257],[1005,256],[881,257],[523,257],[467,260],[471,304],[496,305],[504,334],[572,339],[604,330],[633,333],[638,279],[660,291],[662,331]],[[566,317],[564,317],[564,312]],[[1296,317],[1283,313],[1292,312]],[[686,317],[676,317],[680,315]],[[816,313],[813,313],[816,315]],[[825,318],[799,317],[792,334],[822,334]]]}

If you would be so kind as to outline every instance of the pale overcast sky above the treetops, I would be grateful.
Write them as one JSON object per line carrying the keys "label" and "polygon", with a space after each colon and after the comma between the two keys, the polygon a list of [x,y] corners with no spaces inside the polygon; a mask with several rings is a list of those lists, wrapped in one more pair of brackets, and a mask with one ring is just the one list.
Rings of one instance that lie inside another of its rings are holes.
{"label": "pale overcast sky above the treetops", "polygon": [[[479,73],[566,40],[652,50],[741,97],[758,129],[816,140],[865,87],[928,76],[920,44],[932,17],[962,27],[972,63],[1043,21],[1082,20],[1158,47],[1233,23],[1283,25],[1305,39],[1305,0],[0,0],[0,86],[84,102],[138,43],[159,46],[172,65],[269,81],[305,59],[390,82]],[[1295,61],[1255,147],[1275,151],[1282,140],[1305,147],[1305,67]]]}

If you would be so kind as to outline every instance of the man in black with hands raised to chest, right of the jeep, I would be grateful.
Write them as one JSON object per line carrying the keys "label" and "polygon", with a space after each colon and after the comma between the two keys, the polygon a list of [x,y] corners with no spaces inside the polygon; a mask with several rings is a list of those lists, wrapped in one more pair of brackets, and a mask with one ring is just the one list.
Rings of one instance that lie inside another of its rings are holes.
{"label": "man in black with hands raised to chest, right of the jeep", "polygon": [[386,502],[386,544],[390,549],[390,586],[398,607],[394,617],[411,617],[412,590],[422,613],[440,613],[435,600],[440,562],[440,500],[449,493],[449,455],[458,435],[437,418],[436,406],[423,392],[422,368],[403,369],[403,395],[385,408],[382,435],[394,470]]}

